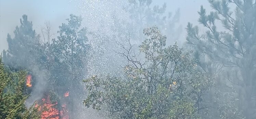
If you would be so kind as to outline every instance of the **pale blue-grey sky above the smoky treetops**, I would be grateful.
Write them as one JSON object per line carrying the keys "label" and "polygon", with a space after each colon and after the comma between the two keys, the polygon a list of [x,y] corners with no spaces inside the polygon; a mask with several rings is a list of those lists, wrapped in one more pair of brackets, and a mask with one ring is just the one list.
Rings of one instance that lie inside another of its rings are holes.
{"label": "pale blue-grey sky above the smoky treetops", "polygon": [[[64,23],[69,14],[80,15],[82,12],[77,7],[82,0],[0,0],[0,52],[8,49],[7,34],[13,37],[13,31],[20,25],[23,14],[28,15],[28,20],[33,22],[37,33],[46,21],[50,21],[52,31],[56,32],[58,26]],[[180,39],[185,40],[185,27],[188,22],[198,24],[200,5],[210,10],[207,0],[152,0],[153,4],[167,3],[167,11],[175,12],[180,8],[180,24],[183,32]]]}

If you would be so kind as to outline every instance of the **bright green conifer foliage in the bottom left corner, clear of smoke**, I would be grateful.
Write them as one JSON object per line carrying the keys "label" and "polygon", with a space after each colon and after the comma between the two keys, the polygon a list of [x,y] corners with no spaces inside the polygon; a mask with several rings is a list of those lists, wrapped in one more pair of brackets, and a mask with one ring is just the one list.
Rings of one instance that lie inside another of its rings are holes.
{"label": "bright green conifer foliage in the bottom left corner, clear of smoke", "polygon": [[40,119],[40,112],[34,105],[27,108],[25,100],[26,71],[8,74],[0,56],[0,119]]}

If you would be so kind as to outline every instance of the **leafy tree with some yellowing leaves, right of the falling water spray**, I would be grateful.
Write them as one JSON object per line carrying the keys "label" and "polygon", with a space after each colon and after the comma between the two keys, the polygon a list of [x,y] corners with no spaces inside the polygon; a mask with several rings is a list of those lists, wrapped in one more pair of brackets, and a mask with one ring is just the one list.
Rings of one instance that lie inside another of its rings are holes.
{"label": "leafy tree with some yellowing leaves, right of the falling water spray", "polygon": [[[157,27],[144,29],[147,37],[133,55],[132,47],[119,44],[128,64],[118,77],[92,76],[84,80],[87,107],[103,109],[109,118],[191,119],[211,82],[196,69],[177,44],[165,46],[166,36]],[[143,58],[144,57],[144,58]]]}

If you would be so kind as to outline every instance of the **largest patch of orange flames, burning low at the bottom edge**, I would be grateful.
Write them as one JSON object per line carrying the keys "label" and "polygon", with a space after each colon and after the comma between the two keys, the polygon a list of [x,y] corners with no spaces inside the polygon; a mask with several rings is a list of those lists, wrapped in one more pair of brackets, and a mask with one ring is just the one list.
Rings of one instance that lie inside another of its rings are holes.
{"label": "largest patch of orange flames, burning low at the bottom edge", "polygon": [[[39,104],[36,105],[36,107],[38,106]],[[38,109],[42,111],[41,119],[69,119],[66,104],[62,104],[60,109],[58,109],[58,103],[52,103],[49,96],[42,99],[42,103]]]}

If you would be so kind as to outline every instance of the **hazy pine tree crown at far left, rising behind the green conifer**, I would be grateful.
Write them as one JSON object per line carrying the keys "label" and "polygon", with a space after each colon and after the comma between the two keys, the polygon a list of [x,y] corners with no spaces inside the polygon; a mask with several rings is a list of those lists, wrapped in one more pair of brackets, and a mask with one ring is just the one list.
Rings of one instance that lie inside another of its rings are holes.
{"label": "hazy pine tree crown at far left, rising behind the green conifer", "polygon": [[8,50],[3,52],[3,62],[14,70],[35,65],[41,55],[40,37],[33,29],[32,22],[28,21],[27,15],[22,16],[20,23],[14,30],[14,38],[7,35]]}

